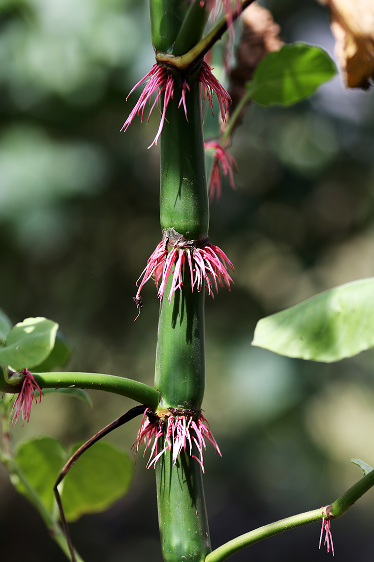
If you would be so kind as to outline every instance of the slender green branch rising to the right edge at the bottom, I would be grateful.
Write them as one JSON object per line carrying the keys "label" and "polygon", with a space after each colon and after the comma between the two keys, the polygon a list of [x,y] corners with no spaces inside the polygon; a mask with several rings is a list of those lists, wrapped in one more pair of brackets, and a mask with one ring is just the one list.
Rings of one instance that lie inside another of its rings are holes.
{"label": "slender green branch rising to the right edge at the bottom", "polygon": [[308,523],[320,521],[325,519],[336,519],[344,515],[352,505],[361,498],[370,488],[374,486],[374,470],[364,476],[361,480],[356,482],[352,488],[349,488],[342,496],[337,498],[333,504],[313,511],[306,511],[299,515],[293,515],[286,519],[281,519],[275,523],[264,525],[249,533],[241,534],[240,537],[234,538],[232,541],[226,542],[225,545],[220,546],[218,549],[213,550],[205,559],[205,562],[224,562],[230,556],[245,549],[247,546],[254,545],[254,543],[263,541],[265,538],[273,537],[275,534],[290,531],[295,527],[301,527]]}

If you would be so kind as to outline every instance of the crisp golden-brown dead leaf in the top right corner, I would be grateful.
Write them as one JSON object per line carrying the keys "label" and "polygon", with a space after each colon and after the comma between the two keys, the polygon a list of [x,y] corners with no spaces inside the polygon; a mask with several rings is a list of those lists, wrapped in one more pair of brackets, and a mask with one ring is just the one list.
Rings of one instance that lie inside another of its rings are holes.
{"label": "crisp golden-brown dead leaf in the top right corner", "polygon": [[374,78],[374,0],[318,0],[329,8],[335,53],[348,88]]}

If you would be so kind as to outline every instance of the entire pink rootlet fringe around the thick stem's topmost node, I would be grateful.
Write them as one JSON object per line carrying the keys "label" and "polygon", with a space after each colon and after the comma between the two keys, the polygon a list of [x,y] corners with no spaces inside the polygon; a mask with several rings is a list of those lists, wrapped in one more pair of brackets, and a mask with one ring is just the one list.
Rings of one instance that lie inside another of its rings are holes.
{"label": "entire pink rootlet fringe around the thick stem's topmost node", "polygon": [[[216,94],[218,103],[220,104],[220,108],[221,108],[221,117],[222,120],[225,121],[226,120],[225,116],[227,111],[229,110],[229,103],[231,103],[231,98],[229,94],[226,92],[225,88],[222,87],[222,85],[218,82],[217,78],[213,76],[212,70],[213,70],[212,67],[207,65],[206,62],[203,62],[202,68],[197,77],[202,87],[202,102],[203,99],[208,97],[209,105],[211,106],[211,110],[213,112],[213,95]],[[134,92],[135,88],[138,88],[138,86],[140,86],[140,84],[143,84],[143,82],[145,82],[143,92],[142,94],[140,94],[140,98],[138,99],[138,102],[136,102],[133,111],[131,111],[129,117],[127,117],[124,125],[122,126],[121,131],[126,131],[129,128],[130,123],[133,121],[135,115],[139,115],[140,112],[142,112],[141,119],[143,121],[144,110],[147,103],[149,103],[149,107],[150,107],[148,119],[147,119],[147,123],[148,123],[149,117],[152,114],[154,107],[156,106],[158,107],[158,102],[161,97],[161,94],[165,92],[163,97],[163,107],[162,107],[161,119],[159,121],[158,131],[156,137],[154,137],[153,139],[152,144],[150,144],[150,146],[148,147],[150,148],[151,146],[153,146],[153,144],[157,144],[159,136],[161,135],[163,124],[165,123],[166,120],[167,106],[170,100],[172,99],[172,97],[174,96],[175,77],[172,75],[171,71],[167,69],[165,66],[156,63],[152,66],[152,69],[150,69],[148,74],[145,75],[144,78],[142,78],[142,80],[140,80],[138,84],[134,86],[134,88],[129,93],[129,96]],[[179,100],[178,107],[183,105],[184,114],[188,121],[187,106],[186,106],[186,92],[189,92],[190,87],[186,77],[181,77],[180,89],[181,89],[181,97]],[[154,99],[154,102],[151,106],[150,99],[152,98],[153,94],[156,92],[157,92],[156,98]],[[126,100],[129,98],[129,96],[127,96]]]}

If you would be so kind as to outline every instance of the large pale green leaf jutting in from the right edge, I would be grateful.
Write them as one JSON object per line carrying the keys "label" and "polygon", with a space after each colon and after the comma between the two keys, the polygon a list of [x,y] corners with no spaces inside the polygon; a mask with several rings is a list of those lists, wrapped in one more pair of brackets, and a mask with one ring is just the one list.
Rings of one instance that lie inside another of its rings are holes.
{"label": "large pale green leaf jutting in from the right edge", "polygon": [[374,346],[374,278],[346,283],[259,320],[253,346],[339,361]]}

